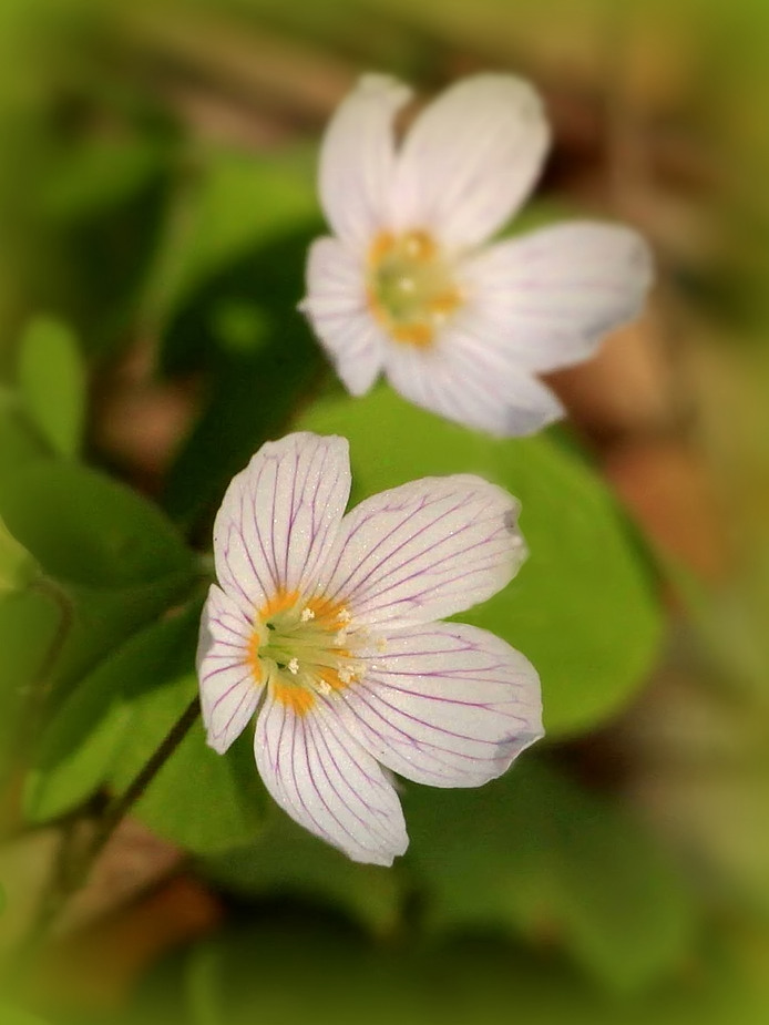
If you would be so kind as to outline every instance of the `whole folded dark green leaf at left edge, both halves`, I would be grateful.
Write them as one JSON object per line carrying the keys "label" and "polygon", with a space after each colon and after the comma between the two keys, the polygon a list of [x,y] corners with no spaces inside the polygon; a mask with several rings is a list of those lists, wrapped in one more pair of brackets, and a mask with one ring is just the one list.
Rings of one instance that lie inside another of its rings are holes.
{"label": "whole folded dark green leaf at left edge, both halves", "polygon": [[194,556],[160,510],[76,463],[18,470],[0,489],[0,512],[66,606],[54,704],[195,582]]}

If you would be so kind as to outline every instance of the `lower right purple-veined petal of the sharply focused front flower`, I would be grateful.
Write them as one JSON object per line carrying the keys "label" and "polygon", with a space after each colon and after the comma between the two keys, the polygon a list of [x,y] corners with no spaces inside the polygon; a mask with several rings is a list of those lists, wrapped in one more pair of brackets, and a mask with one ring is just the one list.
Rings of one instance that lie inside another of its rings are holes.
{"label": "lower right purple-veined petal of the sharply focused front flower", "polygon": [[339,691],[346,721],[382,765],[432,787],[479,787],[543,736],[540,678],[488,631],[431,623],[399,631]]}

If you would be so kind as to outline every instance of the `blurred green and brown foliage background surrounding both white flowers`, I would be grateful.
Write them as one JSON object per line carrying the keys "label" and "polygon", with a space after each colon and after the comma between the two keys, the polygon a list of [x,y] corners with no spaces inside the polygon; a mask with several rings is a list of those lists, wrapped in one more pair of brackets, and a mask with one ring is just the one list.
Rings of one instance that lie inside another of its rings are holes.
{"label": "blurred green and brown foliage background surrounding both white flowers", "polygon": [[[531,558],[462,618],[532,658],[547,726],[482,790],[404,786],[392,870],[193,729],[3,1023],[769,1018],[768,45],[760,0],[0,0],[9,964],[194,696],[212,515],[268,438],[348,435],[353,501],[521,498]],[[505,442],[349,399],[296,311],[357,74],[488,68],[554,126],[512,230],[618,218],[658,258],[643,320],[552,376],[570,422]]]}

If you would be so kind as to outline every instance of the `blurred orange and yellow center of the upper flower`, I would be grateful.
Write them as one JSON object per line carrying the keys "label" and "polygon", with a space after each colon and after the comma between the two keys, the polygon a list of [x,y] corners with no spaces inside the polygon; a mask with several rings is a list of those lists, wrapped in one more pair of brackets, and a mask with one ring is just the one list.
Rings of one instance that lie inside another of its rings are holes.
{"label": "blurred orange and yellow center of the upper flower", "polygon": [[462,293],[427,232],[383,232],[369,250],[368,301],[396,341],[429,348]]}

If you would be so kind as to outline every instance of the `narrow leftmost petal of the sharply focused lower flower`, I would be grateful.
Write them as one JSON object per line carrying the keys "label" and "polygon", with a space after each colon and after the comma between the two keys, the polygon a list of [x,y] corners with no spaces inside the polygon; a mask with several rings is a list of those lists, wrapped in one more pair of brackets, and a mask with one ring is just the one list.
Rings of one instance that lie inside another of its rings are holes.
{"label": "narrow leftmost petal of the sharply focused lower flower", "polygon": [[203,608],[197,678],[208,745],[224,755],[256,711],[262,687],[248,665],[250,622],[236,602],[212,585]]}

